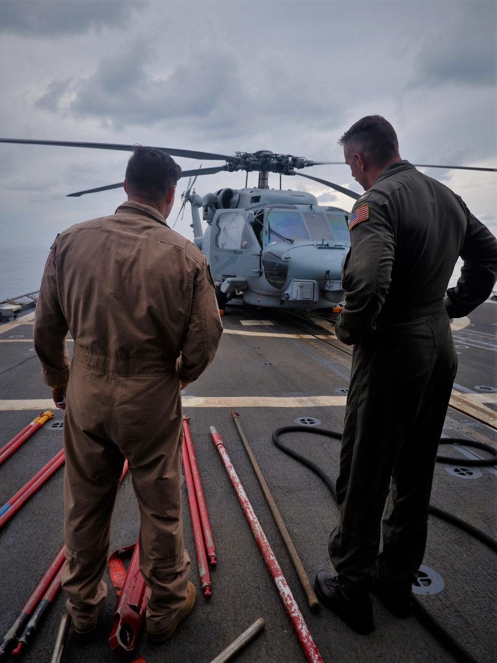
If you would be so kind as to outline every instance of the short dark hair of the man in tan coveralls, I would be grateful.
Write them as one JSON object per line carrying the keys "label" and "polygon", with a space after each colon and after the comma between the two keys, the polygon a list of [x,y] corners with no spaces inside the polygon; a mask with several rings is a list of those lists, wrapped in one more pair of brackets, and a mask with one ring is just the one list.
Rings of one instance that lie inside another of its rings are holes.
{"label": "short dark hair of the man in tan coveralls", "polygon": [[156,147],[135,145],[126,168],[128,194],[159,200],[181,177],[181,167]]}

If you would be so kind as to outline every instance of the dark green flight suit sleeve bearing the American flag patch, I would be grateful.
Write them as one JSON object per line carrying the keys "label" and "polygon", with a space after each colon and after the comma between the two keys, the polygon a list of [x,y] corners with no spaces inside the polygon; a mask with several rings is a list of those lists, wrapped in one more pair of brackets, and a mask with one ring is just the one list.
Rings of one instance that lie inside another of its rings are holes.
{"label": "dark green flight suit sleeve bearing the American flag patch", "polygon": [[[355,221],[361,213],[367,218]],[[354,206],[349,230],[351,249],[343,269],[345,306],[335,327],[345,345],[353,345],[375,330],[390,286],[395,249],[394,231],[381,206]]]}

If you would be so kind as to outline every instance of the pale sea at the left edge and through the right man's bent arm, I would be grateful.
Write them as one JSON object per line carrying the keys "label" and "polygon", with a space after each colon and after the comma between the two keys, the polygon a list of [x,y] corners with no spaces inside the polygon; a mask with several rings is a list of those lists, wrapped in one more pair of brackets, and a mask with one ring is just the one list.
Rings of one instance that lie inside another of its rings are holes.
{"label": "pale sea at the left edge and through the right man's bent arm", "polygon": [[[0,301],[38,290],[50,249],[0,249]],[[455,286],[463,261],[457,261],[449,286]]]}

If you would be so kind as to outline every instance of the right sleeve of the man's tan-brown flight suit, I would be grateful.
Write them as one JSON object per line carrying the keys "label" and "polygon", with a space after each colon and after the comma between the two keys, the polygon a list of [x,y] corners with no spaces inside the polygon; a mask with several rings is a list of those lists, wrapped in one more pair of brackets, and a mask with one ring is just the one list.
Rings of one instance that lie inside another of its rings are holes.
{"label": "right sleeve of the man's tan-brown flight suit", "polygon": [[207,261],[199,264],[193,280],[189,320],[181,339],[177,372],[181,382],[193,382],[202,375],[218,349],[222,334],[214,282]]}

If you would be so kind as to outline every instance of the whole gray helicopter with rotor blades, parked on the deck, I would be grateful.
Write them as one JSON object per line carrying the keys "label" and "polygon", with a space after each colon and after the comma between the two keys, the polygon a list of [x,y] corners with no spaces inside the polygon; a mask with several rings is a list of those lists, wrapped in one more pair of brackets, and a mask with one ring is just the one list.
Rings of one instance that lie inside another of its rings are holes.
{"label": "whole gray helicopter with rotor blades, parked on the deck", "polygon": [[[0,139],[0,143],[56,145],[94,149],[132,151],[133,145],[114,143],[73,143]],[[290,154],[271,151],[236,152],[232,156],[192,150],[158,148],[171,156],[199,160],[224,160],[221,166],[183,170],[183,177],[194,177],[183,193],[184,211],[191,205],[195,244],[206,255],[216,286],[220,310],[228,300],[253,306],[293,309],[333,309],[343,300],[341,267],[350,248],[349,214],[346,210],[320,206],[312,194],[281,190],[281,175],[301,177],[338,190],[357,200],[347,188],[306,175],[296,170],[343,161],[311,161]],[[427,166],[428,164],[414,164]],[[496,170],[471,166],[429,166],[461,170]],[[222,188],[203,198],[192,190],[199,175],[226,170],[259,172],[257,187]],[[279,190],[269,189],[269,172],[279,174]],[[122,182],[79,191],[68,196],[82,196],[122,187]],[[207,227],[203,232],[199,210]],[[178,215],[179,216],[179,215]]]}

